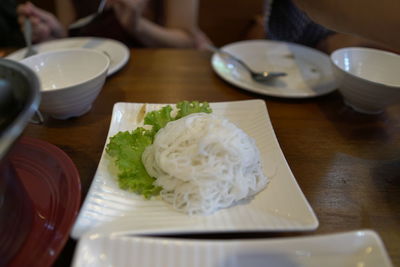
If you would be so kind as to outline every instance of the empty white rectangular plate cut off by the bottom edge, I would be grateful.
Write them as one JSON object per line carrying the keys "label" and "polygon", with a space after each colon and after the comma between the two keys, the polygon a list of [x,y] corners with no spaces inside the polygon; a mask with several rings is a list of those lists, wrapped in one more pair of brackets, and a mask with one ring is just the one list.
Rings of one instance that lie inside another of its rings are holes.
{"label": "empty white rectangular plate cut off by the bottom edge", "polygon": [[92,233],[79,241],[72,266],[390,267],[373,231],[256,240],[190,240]]}

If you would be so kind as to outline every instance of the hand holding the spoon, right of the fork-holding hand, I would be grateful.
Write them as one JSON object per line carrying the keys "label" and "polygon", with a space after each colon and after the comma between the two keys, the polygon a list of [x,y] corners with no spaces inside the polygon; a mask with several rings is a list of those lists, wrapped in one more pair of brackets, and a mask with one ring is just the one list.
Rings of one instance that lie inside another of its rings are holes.
{"label": "hand holding the spoon, right of the fork-holding hand", "polygon": [[148,0],[108,0],[107,6],[114,9],[119,23],[127,32],[136,34],[147,3]]}

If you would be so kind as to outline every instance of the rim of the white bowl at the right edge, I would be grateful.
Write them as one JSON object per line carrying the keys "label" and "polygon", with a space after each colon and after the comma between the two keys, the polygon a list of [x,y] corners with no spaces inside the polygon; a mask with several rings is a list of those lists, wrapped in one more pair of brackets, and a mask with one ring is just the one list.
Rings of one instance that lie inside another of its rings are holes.
{"label": "rim of the white bowl at the right edge", "polygon": [[399,55],[399,54],[396,54],[396,53],[394,53],[394,52],[391,52],[391,51],[386,51],[386,50],[381,50],[381,49],[375,49],[375,48],[370,48],[370,47],[357,47],[357,46],[352,46],[352,47],[343,47],[343,48],[339,48],[339,49],[336,49],[335,51],[333,51],[333,52],[330,54],[330,59],[331,59],[332,65],[333,65],[336,69],[340,70],[341,72],[345,73],[345,74],[348,75],[348,76],[351,76],[351,77],[353,77],[353,78],[356,78],[357,80],[360,80],[360,81],[363,81],[363,82],[367,82],[367,83],[370,83],[370,84],[376,85],[376,86],[382,86],[382,85],[383,85],[383,86],[386,86],[386,87],[388,87],[388,88],[390,88],[390,89],[394,89],[394,90],[399,90],[399,89],[400,89],[400,85],[393,85],[393,84],[387,84],[387,83],[385,83],[385,82],[376,82],[376,81],[367,80],[367,79],[365,79],[365,78],[363,78],[363,77],[360,77],[360,76],[358,76],[358,75],[356,75],[356,74],[354,74],[354,73],[350,73],[350,72],[348,72],[348,71],[342,69],[340,66],[338,66],[338,65],[336,64],[336,62],[335,62],[335,60],[334,60],[334,57],[337,56],[339,53],[343,53],[344,51],[357,51],[357,50],[358,50],[358,51],[364,50],[364,51],[370,51],[370,52],[374,52],[374,53],[387,54],[387,55],[390,55],[390,56],[399,57],[399,60],[400,60],[400,55]]}

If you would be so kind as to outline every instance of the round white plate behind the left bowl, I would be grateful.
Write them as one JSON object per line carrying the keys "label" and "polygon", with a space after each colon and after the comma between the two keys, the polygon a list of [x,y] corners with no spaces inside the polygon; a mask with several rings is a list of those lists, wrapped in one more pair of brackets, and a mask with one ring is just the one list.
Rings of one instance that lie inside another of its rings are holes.
{"label": "round white plate behind the left bowl", "polygon": [[[57,39],[40,43],[34,46],[39,53],[67,49],[67,48],[91,48],[101,51],[110,58],[110,67],[107,75],[110,76],[120,70],[128,62],[130,52],[126,45],[121,42],[106,38],[96,37],[72,37]],[[15,51],[6,58],[20,61],[25,55],[26,48]]]}

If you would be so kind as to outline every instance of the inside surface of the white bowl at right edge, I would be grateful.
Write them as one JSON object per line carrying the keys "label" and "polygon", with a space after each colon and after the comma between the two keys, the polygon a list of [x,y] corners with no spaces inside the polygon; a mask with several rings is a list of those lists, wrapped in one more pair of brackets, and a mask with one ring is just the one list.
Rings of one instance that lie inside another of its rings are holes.
{"label": "inside surface of the white bowl at right edge", "polygon": [[332,53],[333,63],[358,78],[400,87],[400,56],[377,49],[351,47]]}

